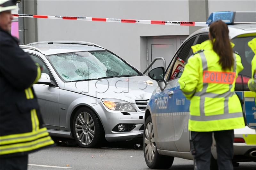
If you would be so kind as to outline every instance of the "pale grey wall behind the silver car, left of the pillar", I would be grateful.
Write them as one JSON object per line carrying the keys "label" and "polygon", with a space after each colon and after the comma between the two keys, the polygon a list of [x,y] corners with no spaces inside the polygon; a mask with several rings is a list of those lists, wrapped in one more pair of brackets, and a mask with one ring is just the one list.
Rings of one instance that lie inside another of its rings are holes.
{"label": "pale grey wall behind the silver car, left of the pillar", "polygon": [[[187,1],[37,1],[38,15],[188,21]],[[145,36],[188,35],[187,26],[38,19],[38,41],[77,40],[99,44],[138,70]],[[141,44],[142,41],[142,44]],[[146,51],[146,49],[143,49]],[[142,60],[142,61],[141,61]],[[144,67],[141,69],[141,66]]]}

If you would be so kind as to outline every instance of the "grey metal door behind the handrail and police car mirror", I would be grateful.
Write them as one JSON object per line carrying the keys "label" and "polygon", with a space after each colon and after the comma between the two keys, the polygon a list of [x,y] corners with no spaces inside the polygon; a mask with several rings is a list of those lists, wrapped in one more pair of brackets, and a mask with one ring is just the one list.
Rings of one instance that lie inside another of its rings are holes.
{"label": "grey metal door behind the handrail and police car mirror", "polygon": [[[170,63],[177,50],[176,38],[148,39],[148,64],[156,57],[163,57],[166,63]],[[152,68],[163,66],[161,60],[156,61]]]}

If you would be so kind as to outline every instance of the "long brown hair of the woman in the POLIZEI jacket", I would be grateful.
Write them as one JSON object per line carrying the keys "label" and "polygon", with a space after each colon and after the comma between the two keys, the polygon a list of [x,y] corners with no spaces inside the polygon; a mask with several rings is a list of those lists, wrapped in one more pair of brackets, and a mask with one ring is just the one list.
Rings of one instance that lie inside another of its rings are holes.
{"label": "long brown hair of the woman in the POLIZEI jacket", "polygon": [[[213,50],[219,55],[222,70],[231,70],[234,65],[233,50],[228,37],[228,26],[221,20],[210,25],[210,40]],[[213,40],[215,39],[215,41]]]}

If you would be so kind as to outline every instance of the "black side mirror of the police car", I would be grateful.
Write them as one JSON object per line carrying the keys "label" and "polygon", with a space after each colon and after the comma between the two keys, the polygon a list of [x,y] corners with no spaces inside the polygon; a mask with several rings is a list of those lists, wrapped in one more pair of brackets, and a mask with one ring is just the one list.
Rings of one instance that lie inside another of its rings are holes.
{"label": "black side mirror of the police car", "polygon": [[166,83],[164,81],[164,67],[156,67],[148,73],[148,76],[157,81],[157,84],[161,90],[164,90]]}

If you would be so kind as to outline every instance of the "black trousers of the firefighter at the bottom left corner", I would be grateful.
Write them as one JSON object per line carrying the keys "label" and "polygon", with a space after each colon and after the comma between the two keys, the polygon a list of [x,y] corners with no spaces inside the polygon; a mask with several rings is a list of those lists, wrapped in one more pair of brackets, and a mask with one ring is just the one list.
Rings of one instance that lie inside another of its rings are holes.
{"label": "black trousers of the firefighter at the bottom left corner", "polygon": [[28,155],[2,158],[0,162],[1,170],[27,170]]}

